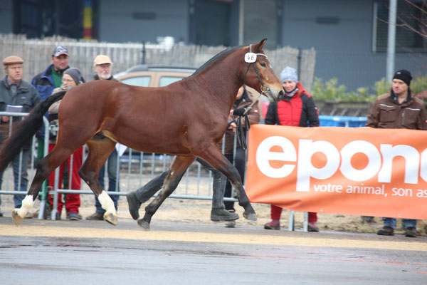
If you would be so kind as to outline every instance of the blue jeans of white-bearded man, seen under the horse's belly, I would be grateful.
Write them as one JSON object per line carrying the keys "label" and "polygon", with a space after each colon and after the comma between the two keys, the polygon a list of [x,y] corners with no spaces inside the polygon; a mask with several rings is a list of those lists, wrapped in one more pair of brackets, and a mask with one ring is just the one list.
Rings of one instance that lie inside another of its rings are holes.
{"label": "blue jeans of white-bearded man, seen under the horse's belly", "polygon": [[[117,154],[117,150],[113,150],[111,152],[110,157],[107,160],[107,172],[108,172],[108,191],[111,192],[119,192],[120,191],[120,175],[119,175],[119,155]],[[98,175],[98,181],[102,189],[105,190],[105,165],[102,166],[100,170],[100,174]],[[114,207],[117,209],[117,203],[119,201],[119,195],[110,195],[112,202],[114,202]],[[100,201],[95,197],[95,207],[97,213],[105,213],[105,209],[102,209]]]}

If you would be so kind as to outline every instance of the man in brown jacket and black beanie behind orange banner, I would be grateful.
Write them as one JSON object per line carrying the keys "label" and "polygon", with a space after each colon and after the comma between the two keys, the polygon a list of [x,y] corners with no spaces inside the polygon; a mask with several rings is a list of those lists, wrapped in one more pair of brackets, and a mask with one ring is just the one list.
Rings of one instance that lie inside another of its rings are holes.
{"label": "man in brown jacket and black beanie behind orange banner", "polygon": [[[426,130],[426,106],[413,96],[412,76],[404,69],[396,71],[389,93],[376,98],[368,115],[367,127]],[[396,227],[396,218],[383,217],[384,227],[379,235],[392,236]],[[416,237],[416,219],[403,219],[406,237]]]}

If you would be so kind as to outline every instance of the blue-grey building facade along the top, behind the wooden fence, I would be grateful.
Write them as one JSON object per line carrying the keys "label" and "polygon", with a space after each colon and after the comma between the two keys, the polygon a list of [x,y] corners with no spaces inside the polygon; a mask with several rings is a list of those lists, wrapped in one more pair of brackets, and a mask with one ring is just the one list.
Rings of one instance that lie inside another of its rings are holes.
{"label": "blue-grey building facade along the top, behind the wooden fence", "polygon": [[[398,24],[421,31],[425,4],[411,2],[398,0]],[[385,77],[388,5],[389,0],[0,0],[0,33],[206,46],[268,38],[265,49],[315,48],[315,77],[336,77],[356,90]],[[396,69],[426,75],[426,38],[398,26],[395,58]]]}

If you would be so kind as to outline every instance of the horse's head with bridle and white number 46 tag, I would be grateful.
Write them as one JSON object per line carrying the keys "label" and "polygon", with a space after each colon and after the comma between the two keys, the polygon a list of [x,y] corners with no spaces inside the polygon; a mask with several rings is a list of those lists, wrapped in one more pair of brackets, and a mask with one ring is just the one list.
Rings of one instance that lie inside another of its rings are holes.
{"label": "horse's head with bridle and white number 46 tag", "polygon": [[246,61],[246,68],[241,78],[244,84],[267,96],[271,102],[280,101],[285,93],[282,83],[275,75],[267,56],[264,54],[265,41],[267,38],[243,48],[245,57],[242,58],[242,61]]}

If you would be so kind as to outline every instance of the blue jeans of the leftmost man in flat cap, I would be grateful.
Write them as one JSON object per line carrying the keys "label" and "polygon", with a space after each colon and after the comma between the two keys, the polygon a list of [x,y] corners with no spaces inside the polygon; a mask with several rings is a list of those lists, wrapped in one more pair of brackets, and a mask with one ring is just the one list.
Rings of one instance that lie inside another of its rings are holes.
{"label": "blue jeans of the leftmost man in flat cap", "polygon": [[[15,191],[27,191],[28,186],[28,162],[30,160],[30,150],[22,150],[22,164],[21,169],[19,167],[20,155],[16,155],[14,160],[12,161],[12,166],[14,167],[14,190]],[[21,170],[21,176],[19,175],[19,171]],[[19,181],[21,180],[21,181]],[[0,173],[0,189],[1,184],[3,183],[3,172]],[[15,208],[20,208],[22,205],[22,200],[25,198],[25,195],[14,195],[14,204]],[[1,205],[1,198],[0,198]]]}

